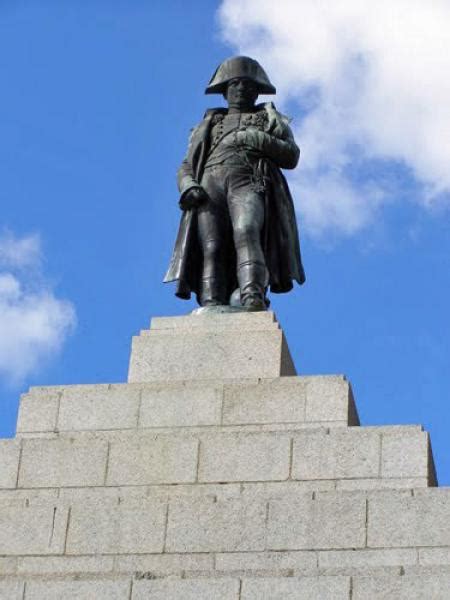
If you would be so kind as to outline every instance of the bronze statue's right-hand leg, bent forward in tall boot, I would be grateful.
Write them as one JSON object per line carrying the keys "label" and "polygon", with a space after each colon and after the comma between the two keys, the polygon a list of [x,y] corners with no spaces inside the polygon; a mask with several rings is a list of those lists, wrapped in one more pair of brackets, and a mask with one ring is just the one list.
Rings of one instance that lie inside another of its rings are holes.
{"label": "bronze statue's right-hand leg, bent forward in tall boot", "polygon": [[237,277],[243,306],[265,309],[267,269],[261,246],[264,196],[248,172],[230,177],[228,206],[237,254]]}

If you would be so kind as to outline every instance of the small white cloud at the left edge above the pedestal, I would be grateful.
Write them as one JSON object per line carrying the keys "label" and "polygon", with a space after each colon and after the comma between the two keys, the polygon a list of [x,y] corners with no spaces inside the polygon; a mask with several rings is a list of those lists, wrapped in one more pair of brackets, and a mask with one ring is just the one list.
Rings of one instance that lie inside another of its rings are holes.
{"label": "small white cloud at the left edge above the pedestal", "polygon": [[0,235],[0,378],[19,383],[61,350],[75,309],[41,274],[36,235]]}

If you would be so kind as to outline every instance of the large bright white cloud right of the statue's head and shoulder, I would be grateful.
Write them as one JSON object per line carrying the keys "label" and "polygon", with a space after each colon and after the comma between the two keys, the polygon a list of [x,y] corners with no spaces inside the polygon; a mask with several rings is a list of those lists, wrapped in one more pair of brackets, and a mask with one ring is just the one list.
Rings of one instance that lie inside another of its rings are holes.
{"label": "large bright white cloud right of the statue's head and shoulder", "polygon": [[405,167],[424,206],[448,201],[448,0],[224,0],[219,16],[298,110],[291,180],[310,232],[351,234],[395,200],[371,161]]}

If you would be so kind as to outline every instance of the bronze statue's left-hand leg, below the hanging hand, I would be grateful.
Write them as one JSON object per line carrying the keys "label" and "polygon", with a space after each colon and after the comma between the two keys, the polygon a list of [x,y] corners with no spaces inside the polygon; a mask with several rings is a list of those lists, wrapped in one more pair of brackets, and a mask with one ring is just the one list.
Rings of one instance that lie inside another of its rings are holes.
{"label": "bronze statue's left-hand leg, below the hanging hand", "polygon": [[198,209],[198,233],[203,251],[200,303],[202,306],[228,304],[226,285],[226,197],[215,170],[207,170],[202,187],[210,200]]}

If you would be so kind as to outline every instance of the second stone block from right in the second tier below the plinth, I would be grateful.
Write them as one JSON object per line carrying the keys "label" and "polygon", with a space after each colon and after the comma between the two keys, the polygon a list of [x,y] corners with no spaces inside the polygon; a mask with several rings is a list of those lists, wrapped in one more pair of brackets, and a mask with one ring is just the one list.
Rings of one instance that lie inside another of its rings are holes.
{"label": "second stone block from right in the second tier below the plinth", "polygon": [[377,477],[380,436],[351,430],[297,435],[294,440],[294,479]]}

